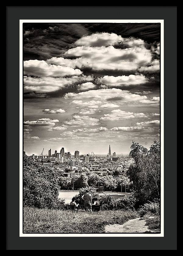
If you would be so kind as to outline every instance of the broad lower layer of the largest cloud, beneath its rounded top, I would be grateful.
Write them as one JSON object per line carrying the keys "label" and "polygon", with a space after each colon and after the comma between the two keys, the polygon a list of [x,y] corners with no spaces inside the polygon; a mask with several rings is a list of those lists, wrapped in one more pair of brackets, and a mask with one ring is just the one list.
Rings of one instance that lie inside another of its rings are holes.
{"label": "broad lower layer of the largest cloud, beneath its rounded top", "polygon": [[[93,70],[133,71],[149,64],[152,60],[152,52],[145,47],[120,49],[113,46],[77,46],[66,51],[64,56],[79,57],[70,60],[70,66],[73,68],[89,67]],[[61,60],[60,65],[62,65]]]}

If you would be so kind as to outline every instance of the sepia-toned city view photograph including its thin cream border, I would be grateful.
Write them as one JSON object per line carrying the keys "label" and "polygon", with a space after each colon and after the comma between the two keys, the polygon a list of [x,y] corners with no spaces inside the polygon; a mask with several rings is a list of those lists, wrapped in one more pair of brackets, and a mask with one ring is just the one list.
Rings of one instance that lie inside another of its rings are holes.
{"label": "sepia-toned city view photograph including its thin cream border", "polygon": [[20,22],[22,236],[163,236],[162,40],[162,20]]}

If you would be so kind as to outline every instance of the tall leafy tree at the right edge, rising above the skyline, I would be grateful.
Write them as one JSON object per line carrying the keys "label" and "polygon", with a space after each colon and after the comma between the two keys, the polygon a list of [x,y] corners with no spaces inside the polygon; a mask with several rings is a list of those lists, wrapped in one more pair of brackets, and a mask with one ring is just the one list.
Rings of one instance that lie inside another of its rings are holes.
{"label": "tall leafy tree at the right edge, rising above the skyline", "polygon": [[132,141],[130,155],[135,164],[130,165],[127,176],[133,181],[139,203],[160,198],[160,142],[154,140],[148,151]]}

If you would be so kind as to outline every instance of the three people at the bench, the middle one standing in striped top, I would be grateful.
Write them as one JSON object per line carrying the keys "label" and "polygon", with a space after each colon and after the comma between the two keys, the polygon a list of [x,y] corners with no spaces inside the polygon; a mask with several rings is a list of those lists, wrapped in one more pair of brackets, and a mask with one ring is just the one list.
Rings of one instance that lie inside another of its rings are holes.
{"label": "three people at the bench, the middle one standing in striped top", "polygon": [[[93,198],[93,203],[92,203],[92,198],[91,198],[91,194],[89,193],[89,190],[86,190],[86,192],[81,198],[84,201],[84,207],[86,211],[89,211],[90,213],[92,213],[92,205],[100,205],[98,198]],[[70,205],[78,207],[79,204],[77,204],[75,201],[76,201],[76,198],[73,197],[72,202],[70,202]]]}

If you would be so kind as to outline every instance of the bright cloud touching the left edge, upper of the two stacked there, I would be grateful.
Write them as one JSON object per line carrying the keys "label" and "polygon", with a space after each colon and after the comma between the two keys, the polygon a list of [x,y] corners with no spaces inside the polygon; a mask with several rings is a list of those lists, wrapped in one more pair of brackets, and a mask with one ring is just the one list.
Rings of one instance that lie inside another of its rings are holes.
{"label": "bright cloud touching the left edge, upper of the two stacked there", "polygon": [[54,76],[54,77],[63,77],[63,76],[78,76],[82,74],[80,69],[73,69],[71,67],[51,65],[46,61],[38,60],[29,60],[24,61],[23,66],[24,74],[29,76]]}

